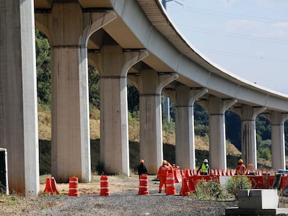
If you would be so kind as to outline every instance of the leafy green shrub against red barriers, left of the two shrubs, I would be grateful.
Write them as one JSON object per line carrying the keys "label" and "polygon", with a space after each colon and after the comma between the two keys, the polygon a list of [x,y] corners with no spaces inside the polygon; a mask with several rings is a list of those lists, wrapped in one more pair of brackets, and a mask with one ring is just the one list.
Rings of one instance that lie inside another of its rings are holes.
{"label": "leafy green shrub against red barriers, left of the two shrubs", "polygon": [[222,199],[224,196],[223,187],[216,179],[205,181],[200,179],[196,184],[196,197],[201,199]]}

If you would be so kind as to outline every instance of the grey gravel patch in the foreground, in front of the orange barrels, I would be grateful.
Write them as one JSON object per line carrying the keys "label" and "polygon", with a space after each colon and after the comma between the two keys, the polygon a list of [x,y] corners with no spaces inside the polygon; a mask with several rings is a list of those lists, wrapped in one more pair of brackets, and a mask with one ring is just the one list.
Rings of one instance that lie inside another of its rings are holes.
{"label": "grey gravel patch in the foreground, in front of the orange barrels", "polygon": [[225,215],[225,208],[236,201],[200,201],[192,196],[157,194],[138,195],[129,190],[102,196],[41,197],[42,209],[29,215]]}

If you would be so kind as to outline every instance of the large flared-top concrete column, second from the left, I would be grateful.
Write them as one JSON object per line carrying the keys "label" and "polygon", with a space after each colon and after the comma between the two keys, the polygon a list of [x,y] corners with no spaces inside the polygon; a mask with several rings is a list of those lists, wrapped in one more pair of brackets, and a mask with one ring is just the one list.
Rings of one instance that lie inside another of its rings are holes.
{"label": "large flared-top concrete column, second from the left", "polygon": [[77,2],[54,3],[36,24],[51,42],[51,172],[58,182],[77,176],[88,182],[90,133],[88,37],[115,19],[113,13],[83,13]]}

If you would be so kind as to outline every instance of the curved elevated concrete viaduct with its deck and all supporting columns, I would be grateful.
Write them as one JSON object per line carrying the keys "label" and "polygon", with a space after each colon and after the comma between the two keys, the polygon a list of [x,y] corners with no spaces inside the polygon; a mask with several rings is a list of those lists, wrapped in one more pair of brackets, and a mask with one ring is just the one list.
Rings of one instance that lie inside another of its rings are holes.
{"label": "curved elevated concrete viaduct with its deck and all supporting columns", "polygon": [[[285,169],[288,96],[211,63],[168,19],[159,0],[0,0],[0,147],[9,188],[39,192],[34,30],[51,44],[51,171],[90,181],[88,63],[100,74],[100,160],[129,176],[127,81],[140,94],[140,155],[150,173],[163,159],[161,94],[176,104],[176,163],[195,168],[193,104],[209,111],[210,161],[226,169],[225,110],[242,119],[242,154],[257,168],[255,118],[271,121],[273,168]],[[35,26],[34,26],[35,24]]]}

